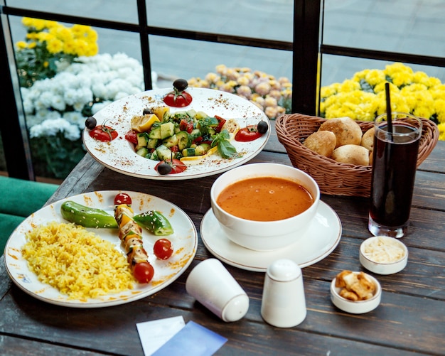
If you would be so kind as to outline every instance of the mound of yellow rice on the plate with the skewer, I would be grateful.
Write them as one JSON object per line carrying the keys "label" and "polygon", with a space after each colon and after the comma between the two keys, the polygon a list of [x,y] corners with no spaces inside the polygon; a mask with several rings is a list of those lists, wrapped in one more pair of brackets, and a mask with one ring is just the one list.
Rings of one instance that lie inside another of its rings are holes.
{"label": "mound of yellow rice on the plate with the skewer", "polygon": [[133,288],[127,258],[111,242],[75,224],[50,222],[26,234],[22,255],[39,281],[73,299]]}

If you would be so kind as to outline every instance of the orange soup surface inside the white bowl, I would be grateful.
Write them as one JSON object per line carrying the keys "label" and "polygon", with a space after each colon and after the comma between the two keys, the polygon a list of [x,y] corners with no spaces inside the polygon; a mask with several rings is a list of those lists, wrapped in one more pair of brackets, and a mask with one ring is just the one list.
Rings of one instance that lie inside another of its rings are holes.
{"label": "orange soup surface inside the white bowl", "polygon": [[313,204],[313,197],[292,180],[255,177],[228,185],[218,195],[216,203],[242,219],[275,221],[301,214]]}

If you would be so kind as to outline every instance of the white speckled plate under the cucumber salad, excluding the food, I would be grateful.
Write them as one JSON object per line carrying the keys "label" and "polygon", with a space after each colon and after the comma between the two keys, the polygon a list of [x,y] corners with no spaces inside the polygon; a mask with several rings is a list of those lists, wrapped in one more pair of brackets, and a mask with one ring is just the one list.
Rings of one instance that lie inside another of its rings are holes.
{"label": "white speckled plate under the cucumber salad, excluding the food", "polygon": [[[230,143],[235,146],[239,158],[222,158],[214,153],[205,158],[187,161],[187,169],[181,173],[159,174],[155,166],[158,161],[151,160],[136,154],[134,144],[125,139],[125,134],[131,129],[131,119],[141,116],[144,109],[154,107],[166,107],[163,97],[171,92],[171,89],[147,90],[136,95],[130,95],[112,102],[104,107],[94,116],[97,124],[106,124],[117,131],[117,138],[111,142],[102,142],[92,139],[89,130],[85,129],[82,134],[83,142],[87,151],[96,161],[107,168],[122,174],[138,178],[181,180],[212,176],[240,166],[250,161],[264,148],[270,136],[270,129],[258,139],[250,142],[238,142],[232,139]],[[247,125],[258,124],[263,120],[269,124],[266,114],[252,102],[219,90],[205,88],[187,88],[193,100],[187,107],[169,107],[171,113],[195,110],[205,112],[210,117],[218,115],[223,119],[236,119],[240,129]]]}

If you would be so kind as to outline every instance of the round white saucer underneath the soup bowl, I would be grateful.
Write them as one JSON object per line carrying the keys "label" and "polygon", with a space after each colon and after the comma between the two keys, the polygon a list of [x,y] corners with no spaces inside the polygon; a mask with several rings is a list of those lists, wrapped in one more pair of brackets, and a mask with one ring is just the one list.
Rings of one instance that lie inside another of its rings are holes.
{"label": "round white saucer underneath the soup bowl", "polygon": [[311,266],[331,254],[341,239],[341,221],[336,212],[322,201],[306,234],[284,249],[267,252],[246,249],[230,241],[219,224],[212,209],[208,210],[200,226],[205,247],[221,261],[247,271],[265,272],[277,259],[291,259],[301,268]]}

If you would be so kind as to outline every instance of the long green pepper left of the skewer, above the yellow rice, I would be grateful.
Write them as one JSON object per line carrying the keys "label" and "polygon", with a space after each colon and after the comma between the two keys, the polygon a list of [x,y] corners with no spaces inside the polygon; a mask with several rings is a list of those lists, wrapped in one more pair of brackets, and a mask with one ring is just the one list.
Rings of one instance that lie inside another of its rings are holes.
{"label": "long green pepper left of the skewer, above the yellow rice", "polygon": [[114,219],[114,216],[109,215],[108,212],[93,207],[86,207],[72,200],[67,200],[60,206],[60,214],[65,220],[83,227],[117,229],[116,219]]}

